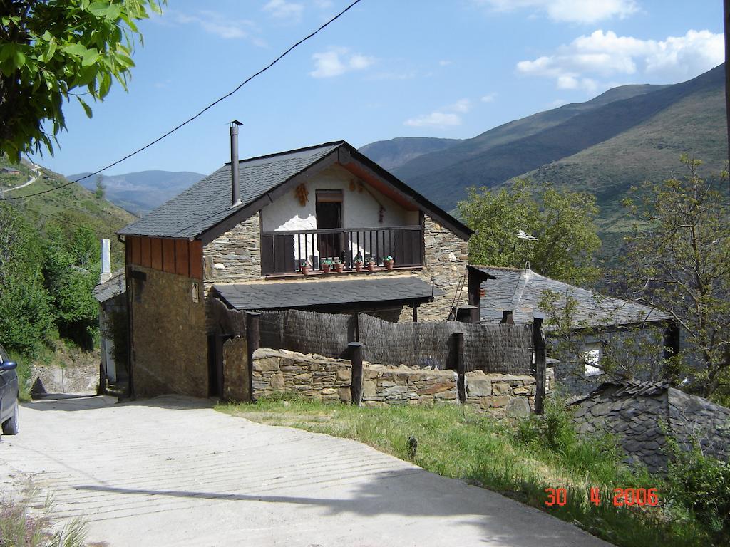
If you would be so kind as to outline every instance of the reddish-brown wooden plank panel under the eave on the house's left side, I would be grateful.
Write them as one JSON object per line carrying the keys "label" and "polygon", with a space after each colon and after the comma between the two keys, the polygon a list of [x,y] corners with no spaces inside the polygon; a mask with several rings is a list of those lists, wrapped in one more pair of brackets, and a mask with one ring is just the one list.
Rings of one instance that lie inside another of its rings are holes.
{"label": "reddish-brown wooden plank panel under the eave on the house's left side", "polygon": [[203,279],[203,244],[187,239],[147,238],[127,236],[127,262],[177,274]]}

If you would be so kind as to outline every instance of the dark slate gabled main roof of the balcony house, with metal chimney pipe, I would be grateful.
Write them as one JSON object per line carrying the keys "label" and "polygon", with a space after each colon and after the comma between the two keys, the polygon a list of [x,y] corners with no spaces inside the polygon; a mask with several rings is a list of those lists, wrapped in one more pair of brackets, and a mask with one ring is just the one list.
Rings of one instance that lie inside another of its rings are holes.
{"label": "dark slate gabled main roof of the balcony house, with metal chimney pipe", "polygon": [[[118,233],[122,236],[202,238],[209,230],[227,220],[234,219],[238,223],[250,217],[258,209],[271,203],[277,197],[276,191],[298,175],[303,175],[317,166],[338,162],[341,158],[357,163],[362,167],[361,171],[377,174],[396,193],[404,196],[407,201],[416,203],[420,209],[431,214],[434,220],[457,235],[469,238],[472,234],[472,230],[464,224],[345,141],[240,160],[239,197],[242,203],[236,207],[231,206],[231,165],[227,163]],[[274,193],[274,196],[269,193]]]}

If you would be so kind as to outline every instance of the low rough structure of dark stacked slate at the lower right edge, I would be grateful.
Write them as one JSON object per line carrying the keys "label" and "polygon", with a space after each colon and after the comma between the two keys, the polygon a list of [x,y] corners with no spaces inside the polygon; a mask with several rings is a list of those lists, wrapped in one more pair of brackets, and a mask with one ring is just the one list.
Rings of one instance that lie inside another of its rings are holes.
{"label": "low rough structure of dark stacked slate at the lower right edge", "polygon": [[571,403],[582,434],[618,435],[628,461],[666,469],[666,437],[684,449],[699,443],[704,454],[730,458],[730,408],[688,395],[666,383],[604,382]]}

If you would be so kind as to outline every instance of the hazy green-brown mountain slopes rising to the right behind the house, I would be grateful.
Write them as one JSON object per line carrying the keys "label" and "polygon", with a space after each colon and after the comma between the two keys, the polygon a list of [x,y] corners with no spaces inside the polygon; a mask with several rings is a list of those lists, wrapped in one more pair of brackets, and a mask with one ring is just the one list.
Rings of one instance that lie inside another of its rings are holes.
{"label": "hazy green-brown mountain slopes rising to the right behind the house", "polygon": [[377,141],[361,151],[447,210],[469,187],[497,187],[517,177],[588,191],[600,207],[596,224],[605,243],[628,228],[621,200],[629,188],[682,174],[681,154],[702,160],[705,175],[723,169],[724,65],[675,85],[613,88],[472,139],[433,140]]}

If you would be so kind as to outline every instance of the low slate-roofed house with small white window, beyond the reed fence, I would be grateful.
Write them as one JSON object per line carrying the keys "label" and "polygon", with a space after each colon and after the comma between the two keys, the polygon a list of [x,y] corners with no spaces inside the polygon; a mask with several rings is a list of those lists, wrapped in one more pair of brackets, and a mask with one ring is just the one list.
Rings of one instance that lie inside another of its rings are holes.
{"label": "low slate-roofed house with small white window, beyond the reed fence", "polygon": [[[605,356],[621,357],[627,368],[629,361],[640,360],[645,365],[642,374],[661,376],[661,359],[678,351],[678,327],[657,309],[559,282],[529,268],[469,265],[467,270],[469,299],[460,315],[473,315],[473,321],[531,322],[534,314],[545,314],[540,304],[546,293],[554,296],[553,314],[545,317],[545,336],[552,346],[558,387],[565,394],[583,395],[607,380],[600,366]],[[563,325],[556,325],[556,319]],[[566,326],[568,333],[558,332]]]}

